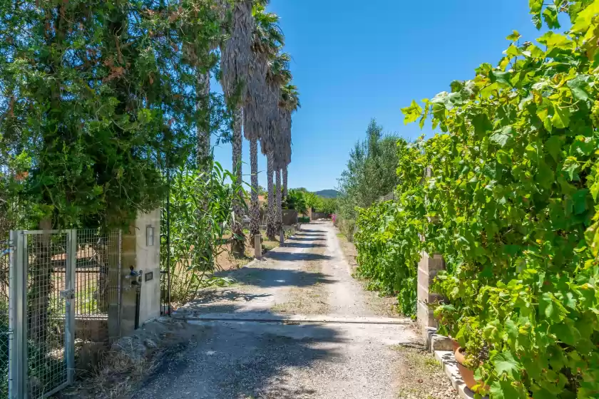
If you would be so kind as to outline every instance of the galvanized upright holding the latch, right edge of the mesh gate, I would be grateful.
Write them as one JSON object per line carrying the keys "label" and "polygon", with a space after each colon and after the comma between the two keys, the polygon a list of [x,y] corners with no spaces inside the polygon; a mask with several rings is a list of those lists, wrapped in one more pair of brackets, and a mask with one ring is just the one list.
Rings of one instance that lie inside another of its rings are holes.
{"label": "galvanized upright holding the latch, right edge of the mesh gate", "polygon": [[73,383],[75,378],[75,271],[77,268],[77,230],[68,230],[65,268],[65,324],[64,324],[64,354],[66,360],[66,380]]}

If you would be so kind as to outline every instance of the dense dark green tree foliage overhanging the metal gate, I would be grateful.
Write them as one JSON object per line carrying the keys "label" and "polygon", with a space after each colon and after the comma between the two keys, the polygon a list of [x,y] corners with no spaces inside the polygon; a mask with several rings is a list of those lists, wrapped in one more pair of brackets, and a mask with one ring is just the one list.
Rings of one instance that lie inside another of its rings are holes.
{"label": "dense dark green tree foliage overhanging the metal gate", "polygon": [[110,227],[157,207],[160,169],[193,146],[193,71],[213,65],[220,36],[203,23],[210,4],[14,1],[0,13],[0,147],[31,160],[15,193],[31,223]]}

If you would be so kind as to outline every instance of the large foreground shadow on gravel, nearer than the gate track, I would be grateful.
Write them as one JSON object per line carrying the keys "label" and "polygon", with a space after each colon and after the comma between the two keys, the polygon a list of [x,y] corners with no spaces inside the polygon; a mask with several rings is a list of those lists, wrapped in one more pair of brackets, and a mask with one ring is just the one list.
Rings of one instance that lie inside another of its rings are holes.
{"label": "large foreground shadow on gravel, nearer than the gate track", "polygon": [[312,397],[316,391],[298,384],[295,370],[341,361],[327,343],[345,341],[322,324],[198,322],[195,328],[203,333],[165,358],[134,399]]}

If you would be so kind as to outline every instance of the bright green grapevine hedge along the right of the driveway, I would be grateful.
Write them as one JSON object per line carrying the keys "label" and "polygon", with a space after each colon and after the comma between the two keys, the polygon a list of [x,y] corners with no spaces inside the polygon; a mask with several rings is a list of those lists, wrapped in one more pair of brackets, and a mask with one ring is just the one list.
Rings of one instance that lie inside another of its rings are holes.
{"label": "bright green grapevine hedge along the right of the driveway", "polygon": [[441,133],[399,147],[396,204],[358,222],[373,284],[414,290],[410,254],[444,256],[436,314],[491,398],[599,397],[599,1],[563,3],[531,9],[568,11],[568,36],[514,32],[498,67],[402,110]]}

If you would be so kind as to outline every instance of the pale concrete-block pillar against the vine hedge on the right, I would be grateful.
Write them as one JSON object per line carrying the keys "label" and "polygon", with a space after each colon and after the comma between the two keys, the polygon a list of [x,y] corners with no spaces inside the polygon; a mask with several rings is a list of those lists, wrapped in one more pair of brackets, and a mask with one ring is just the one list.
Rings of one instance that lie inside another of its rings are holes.
{"label": "pale concrete-block pillar against the vine hedge on the right", "polygon": [[418,302],[416,315],[418,322],[423,328],[439,327],[439,324],[434,318],[433,310],[429,308],[429,304],[438,302],[441,296],[430,291],[435,276],[439,271],[445,269],[443,257],[435,254],[432,257],[426,252],[422,252],[421,259],[418,262]]}

